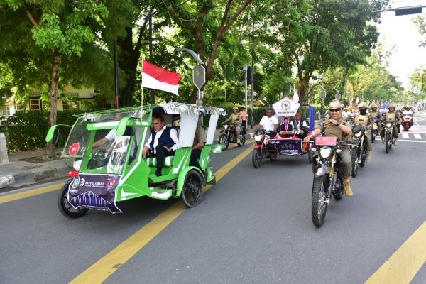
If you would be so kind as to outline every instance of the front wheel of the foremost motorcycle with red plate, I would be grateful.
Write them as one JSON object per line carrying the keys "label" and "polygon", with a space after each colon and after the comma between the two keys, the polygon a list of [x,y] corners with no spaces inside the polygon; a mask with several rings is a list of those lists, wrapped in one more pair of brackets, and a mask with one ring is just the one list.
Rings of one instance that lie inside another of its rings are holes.
{"label": "front wheel of the foremost motorcycle with red plate", "polygon": [[314,183],[312,185],[312,223],[317,228],[320,228],[324,224],[325,214],[327,213],[327,185],[325,177],[314,177]]}

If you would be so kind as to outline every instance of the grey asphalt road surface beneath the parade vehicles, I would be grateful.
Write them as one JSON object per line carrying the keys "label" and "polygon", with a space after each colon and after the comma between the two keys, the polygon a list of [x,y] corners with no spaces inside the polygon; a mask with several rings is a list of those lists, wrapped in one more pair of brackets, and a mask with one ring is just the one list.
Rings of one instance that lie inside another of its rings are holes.
{"label": "grey asphalt road surface beneath the parade vehicles", "polygon": [[[422,129],[425,117],[415,116]],[[252,145],[214,156],[221,179],[192,209],[139,198],[122,202],[123,214],[70,220],[56,207],[57,191],[0,199],[0,283],[366,283],[412,246],[385,273],[398,276],[368,283],[425,283],[426,131],[414,134],[389,154],[373,143],[354,197],[332,200],[320,229],[311,221],[307,156],[255,169]]]}

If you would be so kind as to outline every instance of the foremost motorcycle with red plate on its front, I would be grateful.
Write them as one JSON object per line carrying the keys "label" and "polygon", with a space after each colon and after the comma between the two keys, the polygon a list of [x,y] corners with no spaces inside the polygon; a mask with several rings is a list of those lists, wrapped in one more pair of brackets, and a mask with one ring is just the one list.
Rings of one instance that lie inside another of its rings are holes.
{"label": "foremost motorcycle with red plate on its front", "polygon": [[317,171],[312,183],[312,223],[319,228],[324,224],[327,207],[332,200],[341,200],[344,195],[342,158],[338,155],[342,146],[351,146],[345,141],[337,142],[336,137],[317,136],[314,163]]}

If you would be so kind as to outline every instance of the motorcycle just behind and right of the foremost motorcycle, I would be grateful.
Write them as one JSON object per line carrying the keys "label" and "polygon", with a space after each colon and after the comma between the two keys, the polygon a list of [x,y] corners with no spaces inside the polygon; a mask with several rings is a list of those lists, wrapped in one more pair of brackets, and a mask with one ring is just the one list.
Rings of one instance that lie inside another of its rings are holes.
{"label": "motorcycle just behind and right of the foremost motorcycle", "polygon": [[351,154],[352,154],[352,177],[356,177],[358,173],[359,167],[363,168],[366,164],[367,158],[367,141],[366,139],[366,129],[363,125],[354,126],[352,129],[352,133],[354,136],[352,137],[352,146],[351,146]]}

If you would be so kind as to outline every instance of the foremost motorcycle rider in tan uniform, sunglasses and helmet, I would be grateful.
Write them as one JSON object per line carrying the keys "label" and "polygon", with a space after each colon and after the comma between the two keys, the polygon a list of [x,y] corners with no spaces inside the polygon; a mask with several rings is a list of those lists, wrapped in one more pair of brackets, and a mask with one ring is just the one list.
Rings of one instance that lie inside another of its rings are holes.
{"label": "foremost motorcycle rider in tan uniform, sunglasses and helmet", "polygon": [[[350,121],[346,121],[342,117],[342,103],[337,99],[332,100],[329,104],[329,111],[331,116],[324,118],[317,128],[306,136],[304,141],[310,141],[310,138],[324,133],[324,136],[334,136],[337,140],[342,141],[346,137],[351,137],[352,125]],[[350,197],[353,195],[351,189],[351,175],[352,175],[352,162],[351,162],[351,149],[349,147],[342,147],[342,152],[339,153],[343,163],[343,177],[344,177],[344,193]]]}

